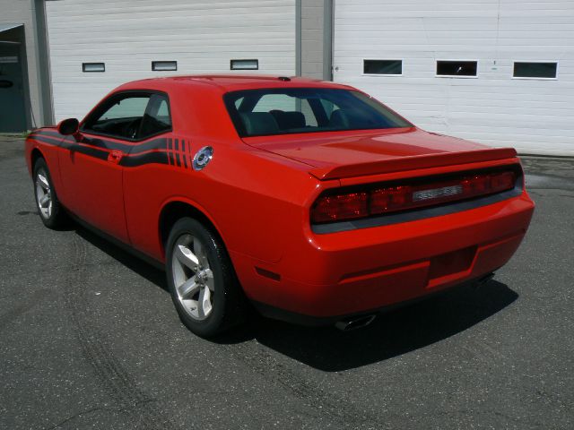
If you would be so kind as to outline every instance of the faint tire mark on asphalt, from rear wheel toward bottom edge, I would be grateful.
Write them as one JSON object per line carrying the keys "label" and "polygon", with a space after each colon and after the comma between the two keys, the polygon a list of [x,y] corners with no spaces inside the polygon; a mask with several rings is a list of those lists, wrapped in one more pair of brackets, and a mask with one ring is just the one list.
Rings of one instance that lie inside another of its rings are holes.
{"label": "faint tire mark on asphalt, from rear wheel toward bottom edge", "polygon": [[252,372],[260,374],[303,400],[305,406],[317,411],[316,417],[328,416],[333,418],[334,423],[353,429],[389,428],[383,417],[364,413],[353,407],[349,402],[350,399],[342,399],[332,392],[326,392],[317,384],[294,373],[279,363],[256,341],[222,346]]}

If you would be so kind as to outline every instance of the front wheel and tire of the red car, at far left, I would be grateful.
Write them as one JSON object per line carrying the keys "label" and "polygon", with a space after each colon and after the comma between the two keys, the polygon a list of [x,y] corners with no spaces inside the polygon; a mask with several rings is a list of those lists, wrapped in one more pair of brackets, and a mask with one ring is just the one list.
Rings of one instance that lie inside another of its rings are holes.
{"label": "front wheel and tire of the red car, at far left", "polygon": [[65,224],[66,214],[57,198],[56,188],[45,159],[37,159],[33,170],[34,196],[39,218],[48,228],[59,228]]}

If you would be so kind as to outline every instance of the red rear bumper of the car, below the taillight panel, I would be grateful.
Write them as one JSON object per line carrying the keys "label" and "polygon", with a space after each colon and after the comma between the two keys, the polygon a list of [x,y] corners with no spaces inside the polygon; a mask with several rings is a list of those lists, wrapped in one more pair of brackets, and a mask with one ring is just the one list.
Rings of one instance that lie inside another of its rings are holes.
{"label": "red rear bumper of the car, below the taillight panel", "polygon": [[303,244],[293,239],[277,263],[236,253],[231,258],[246,294],[264,314],[282,309],[309,321],[336,320],[481,279],[516,252],[533,211],[523,192],[430,219],[309,232]]}

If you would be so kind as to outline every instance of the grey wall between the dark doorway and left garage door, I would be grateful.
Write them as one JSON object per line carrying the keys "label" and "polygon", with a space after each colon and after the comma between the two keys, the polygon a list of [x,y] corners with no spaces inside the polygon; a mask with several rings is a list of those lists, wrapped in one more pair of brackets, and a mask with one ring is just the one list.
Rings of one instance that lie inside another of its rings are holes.
{"label": "grey wall between the dark doorway and left garage door", "polygon": [[[37,5],[43,8],[43,2],[34,0],[0,0],[0,24],[23,24],[25,46],[25,69],[27,69],[27,82],[25,88],[27,102],[27,124],[29,128],[50,124],[51,112],[49,103],[49,88],[42,84],[48,80],[42,76],[46,64],[42,64],[40,56],[44,34],[42,26],[38,25]],[[40,13],[41,15],[41,13]],[[40,16],[41,18],[41,16]],[[44,69],[42,68],[44,67]],[[47,99],[48,98],[48,99]]]}

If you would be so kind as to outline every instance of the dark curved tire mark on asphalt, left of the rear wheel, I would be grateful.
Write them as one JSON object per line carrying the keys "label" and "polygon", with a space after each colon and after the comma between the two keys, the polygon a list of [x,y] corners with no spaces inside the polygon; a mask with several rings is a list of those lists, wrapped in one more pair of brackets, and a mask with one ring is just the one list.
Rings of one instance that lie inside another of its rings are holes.
{"label": "dark curved tire mark on asphalt, left of the rear wheel", "polygon": [[157,405],[159,400],[149,398],[137,387],[135,379],[126,372],[113,352],[101,339],[100,333],[85,318],[83,285],[90,274],[86,244],[77,235],[73,236],[71,264],[66,271],[64,284],[65,306],[74,325],[77,340],[83,356],[94,370],[100,383],[113,400],[113,408],[126,412],[135,428],[170,429],[175,425]]}

